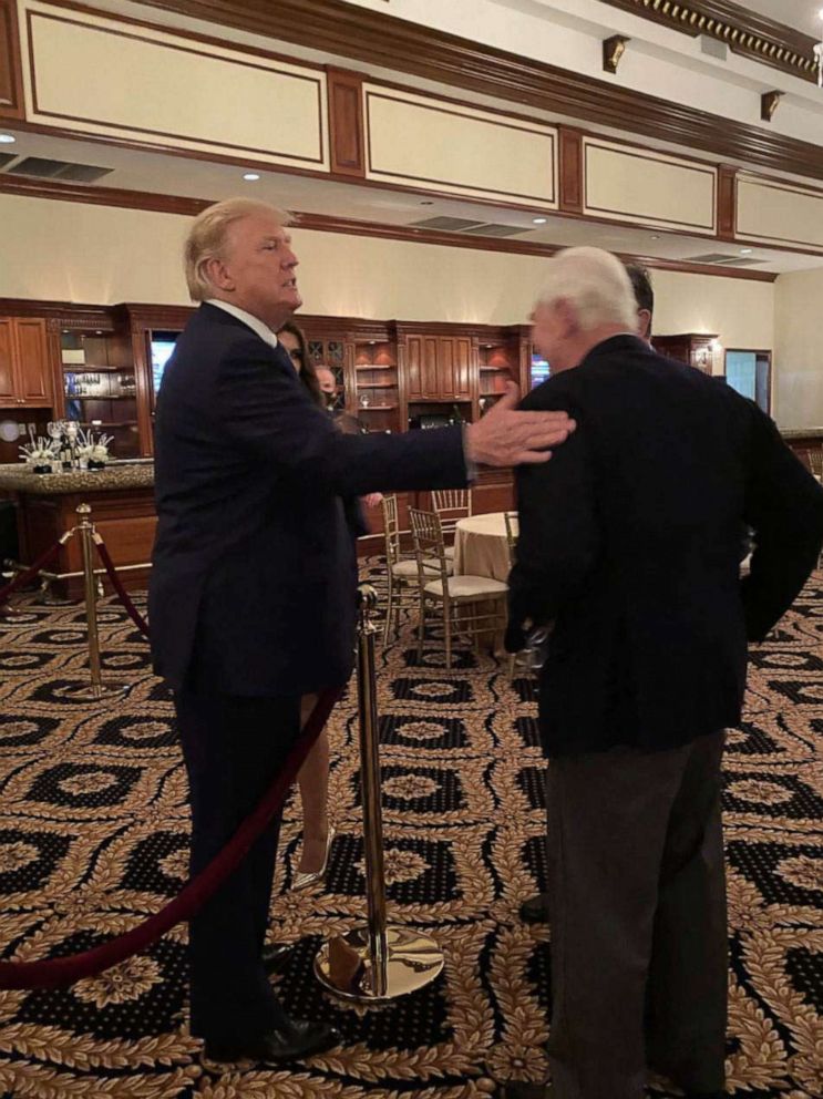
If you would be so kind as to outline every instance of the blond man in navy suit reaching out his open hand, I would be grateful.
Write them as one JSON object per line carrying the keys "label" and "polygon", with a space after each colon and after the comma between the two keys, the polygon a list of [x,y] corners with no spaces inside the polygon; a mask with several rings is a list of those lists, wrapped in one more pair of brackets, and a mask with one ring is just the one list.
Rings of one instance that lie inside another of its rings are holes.
{"label": "blond man in navy suit reaching out his open hand", "polygon": [[[510,393],[463,433],[338,431],[274,335],[301,304],[286,224],[248,199],[195,219],[186,277],[202,305],[157,403],[152,647],[175,691],[195,874],[282,768],[301,696],[351,672],[357,562],[342,497],[463,485],[467,463],[543,462],[573,427],[514,411]],[[336,1041],[290,1019],[267,979],[278,825],[191,924],[192,1033],[216,1061],[280,1062]]]}

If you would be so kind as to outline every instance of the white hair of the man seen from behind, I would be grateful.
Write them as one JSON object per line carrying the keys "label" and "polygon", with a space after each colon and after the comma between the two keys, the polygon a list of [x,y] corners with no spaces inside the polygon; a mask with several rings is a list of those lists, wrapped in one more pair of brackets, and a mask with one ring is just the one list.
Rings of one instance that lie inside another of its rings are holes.
{"label": "white hair of the man seen from behind", "polygon": [[626,268],[601,248],[566,248],[546,264],[538,306],[568,302],[587,332],[600,325],[637,328],[637,302]]}

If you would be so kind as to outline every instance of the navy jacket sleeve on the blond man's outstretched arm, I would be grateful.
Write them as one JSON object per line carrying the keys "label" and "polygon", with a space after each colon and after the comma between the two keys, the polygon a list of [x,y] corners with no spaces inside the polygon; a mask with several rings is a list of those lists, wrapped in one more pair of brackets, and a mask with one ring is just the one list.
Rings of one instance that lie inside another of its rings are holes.
{"label": "navy jacket sleeve on the blond man's outstretched arm", "polygon": [[466,483],[459,428],[343,434],[313,404],[291,366],[255,337],[233,345],[216,388],[216,409],[233,444],[256,459],[265,474],[300,492],[362,496]]}

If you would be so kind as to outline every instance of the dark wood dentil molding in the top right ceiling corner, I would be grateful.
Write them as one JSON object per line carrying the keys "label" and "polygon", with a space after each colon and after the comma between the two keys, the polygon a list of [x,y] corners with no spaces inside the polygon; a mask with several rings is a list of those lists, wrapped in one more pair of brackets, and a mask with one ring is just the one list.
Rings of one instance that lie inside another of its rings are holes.
{"label": "dark wood dentil molding in the top right ceiling corner", "polygon": [[816,81],[815,39],[731,0],[605,0],[613,8],[697,38],[708,34],[734,53],[801,80]]}

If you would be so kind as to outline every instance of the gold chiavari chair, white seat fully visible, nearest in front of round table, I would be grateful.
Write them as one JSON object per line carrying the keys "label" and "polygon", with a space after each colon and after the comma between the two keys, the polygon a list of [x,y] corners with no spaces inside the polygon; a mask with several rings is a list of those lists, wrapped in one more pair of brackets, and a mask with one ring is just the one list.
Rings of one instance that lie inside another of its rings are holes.
{"label": "gold chiavari chair, white seat fully visible, nearest in front of round table", "polygon": [[[426,612],[443,620],[445,666],[452,667],[452,638],[466,634],[475,647],[481,635],[494,635],[505,625],[505,597],[508,586],[488,576],[450,576],[445,556],[443,526],[436,512],[409,509],[414,552],[420,579],[420,618],[418,622],[418,659],[423,658]],[[428,562],[436,562],[439,575],[432,578]],[[494,603],[490,612],[484,604]]]}

